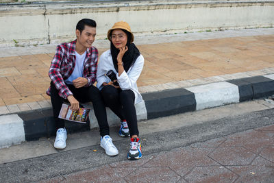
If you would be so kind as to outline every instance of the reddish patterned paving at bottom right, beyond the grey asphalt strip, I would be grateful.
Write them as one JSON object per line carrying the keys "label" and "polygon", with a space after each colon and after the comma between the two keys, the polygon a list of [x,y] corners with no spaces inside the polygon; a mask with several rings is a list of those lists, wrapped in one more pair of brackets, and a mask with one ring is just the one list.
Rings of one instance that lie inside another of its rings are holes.
{"label": "reddish patterned paving at bottom right, beyond the grey asphalt strip", "polygon": [[[252,141],[250,140],[252,139]],[[273,182],[274,125],[44,182]]]}

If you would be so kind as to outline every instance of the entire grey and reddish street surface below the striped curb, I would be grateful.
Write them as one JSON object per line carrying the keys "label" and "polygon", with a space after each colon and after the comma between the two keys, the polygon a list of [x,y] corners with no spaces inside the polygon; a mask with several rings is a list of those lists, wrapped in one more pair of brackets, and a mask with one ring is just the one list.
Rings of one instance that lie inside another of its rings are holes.
{"label": "entire grey and reddish street surface below the striped curb", "polygon": [[22,143],[0,149],[1,182],[269,182],[273,108],[256,100],[141,121],[144,156],[137,161],[126,160],[129,139],[114,128],[115,157],[99,147],[96,131],[69,134],[61,151],[51,139]]}

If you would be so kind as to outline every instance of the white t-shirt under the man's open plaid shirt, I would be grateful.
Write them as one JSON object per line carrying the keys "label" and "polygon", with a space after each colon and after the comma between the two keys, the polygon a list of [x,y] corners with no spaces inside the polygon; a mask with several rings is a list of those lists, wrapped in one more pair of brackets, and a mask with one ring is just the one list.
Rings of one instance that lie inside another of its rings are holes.
{"label": "white t-shirt under the man's open plaid shirt", "polygon": [[75,68],[71,76],[64,81],[66,84],[73,84],[73,80],[77,79],[78,77],[83,77],[84,60],[86,58],[86,51],[82,55],[79,55],[79,53],[75,51],[75,56],[76,56]]}

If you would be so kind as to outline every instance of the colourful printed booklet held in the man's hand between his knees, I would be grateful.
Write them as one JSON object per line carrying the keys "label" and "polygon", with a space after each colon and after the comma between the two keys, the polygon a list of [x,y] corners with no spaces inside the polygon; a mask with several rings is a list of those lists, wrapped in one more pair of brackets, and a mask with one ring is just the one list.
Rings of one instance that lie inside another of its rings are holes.
{"label": "colourful printed booklet held in the man's hand between his knees", "polygon": [[59,118],[77,123],[86,123],[89,112],[90,109],[87,108],[79,108],[79,110],[72,111],[68,104],[63,103],[59,113]]}

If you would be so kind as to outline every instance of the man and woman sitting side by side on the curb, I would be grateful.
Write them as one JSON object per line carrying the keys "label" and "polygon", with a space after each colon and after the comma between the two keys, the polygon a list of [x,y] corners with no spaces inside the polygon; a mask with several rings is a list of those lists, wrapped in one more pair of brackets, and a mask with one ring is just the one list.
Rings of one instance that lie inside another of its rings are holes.
{"label": "man and woman sitting side by side on the curb", "polygon": [[[136,81],[142,72],[144,58],[132,43],[134,35],[126,22],[117,22],[108,31],[110,49],[105,51],[98,62],[98,51],[92,47],[95,41],[96,23],[82,19],[76,26],[76,40],[57,46],[51,61],[49,77],[53,116],[56,125],[54,147],[66,147],[64,120],[58,115],[64,101],[69,101],[71,110],[79,109],[79,102],[91,101],[97,118],[101,147],[109,156],[119,154],[110,138],[110,129],[105,111],[108,106],[120,119],[120,136],[130,136],[128,159],[142,157],[135,103],[142,101]],[[106,75],[113,71],[116,81]],[[93,84],[97,81],[97,87]]]}

